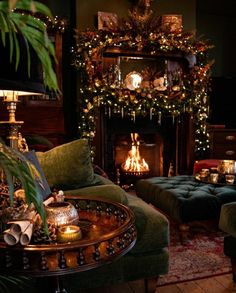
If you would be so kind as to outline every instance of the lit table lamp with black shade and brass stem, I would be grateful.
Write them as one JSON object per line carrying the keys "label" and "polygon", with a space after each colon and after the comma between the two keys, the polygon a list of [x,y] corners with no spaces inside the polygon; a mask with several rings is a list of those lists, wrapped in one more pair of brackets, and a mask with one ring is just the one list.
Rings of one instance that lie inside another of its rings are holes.
{"label": "lit table lamp with black shade and brass stem", "polygon": [[0,97],[7,105],[9,113],[8,121],[0,123],[9,126],[7,138],[13,148],[18,148],[19,128],[23,124],[23,121],[17,121],[15,117],[19,97],[45,93],[40,60],[32,49],[28,55],[27,48],[23,45],[20,44],[20,61],[16,68],[14,54],[11,57],[9,47],[0,44]]}

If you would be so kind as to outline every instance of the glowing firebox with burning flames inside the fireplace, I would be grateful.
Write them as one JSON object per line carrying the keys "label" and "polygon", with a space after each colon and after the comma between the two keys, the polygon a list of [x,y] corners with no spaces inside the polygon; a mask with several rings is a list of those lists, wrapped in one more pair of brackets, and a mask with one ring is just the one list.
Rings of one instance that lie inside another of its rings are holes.
{"label": "glowing firebox with burning flames inside the fireplace", "polygon": [[138,179],[163,175],[163,140],[158,133],[116,134],[114,150],[121,185],[133,185]]}

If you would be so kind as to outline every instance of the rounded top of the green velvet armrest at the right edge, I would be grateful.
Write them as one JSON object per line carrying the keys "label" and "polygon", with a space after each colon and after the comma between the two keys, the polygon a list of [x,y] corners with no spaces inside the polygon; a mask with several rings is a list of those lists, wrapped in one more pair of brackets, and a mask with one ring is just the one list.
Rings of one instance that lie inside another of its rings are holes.
{"label": "rounded top of the green velvet armrest at the right edge", "polygon": [[236,238],[236,202],[222,205],[219,227]]}

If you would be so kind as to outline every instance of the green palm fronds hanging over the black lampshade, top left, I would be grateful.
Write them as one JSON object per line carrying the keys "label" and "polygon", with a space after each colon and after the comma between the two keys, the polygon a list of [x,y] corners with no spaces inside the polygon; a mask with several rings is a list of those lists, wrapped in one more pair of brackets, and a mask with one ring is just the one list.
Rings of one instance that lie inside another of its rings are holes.
{"label": "green palm fronds hanging over the black lampshade, top left", "polygon": [[21,62],[21,48],[17,37],[20,35],[26,45],[28,74],[30,75],[30,48],[32,48],[42,64],[45,85],[49,90],[59,91],[53,67],[53,63],[56,62],[55,48],[48,37],[45,22],[38,15],[52,18],[50,9],[38,1],[0,1],[1,42],[3,46],[9,43],[10,62],[14,62],[17,69],[19,62]]}

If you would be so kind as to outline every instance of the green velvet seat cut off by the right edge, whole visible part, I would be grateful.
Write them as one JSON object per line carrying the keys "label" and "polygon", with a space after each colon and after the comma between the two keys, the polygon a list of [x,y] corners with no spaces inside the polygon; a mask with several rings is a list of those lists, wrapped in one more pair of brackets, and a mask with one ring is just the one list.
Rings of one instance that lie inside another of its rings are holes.
{"label": "green velvet seat cut off by the right edge, whole visible part", "polygon": [[236,283],[236,202],[221,207],[219,228],[226,232],[224,253],[231,259],[233,281]]}

